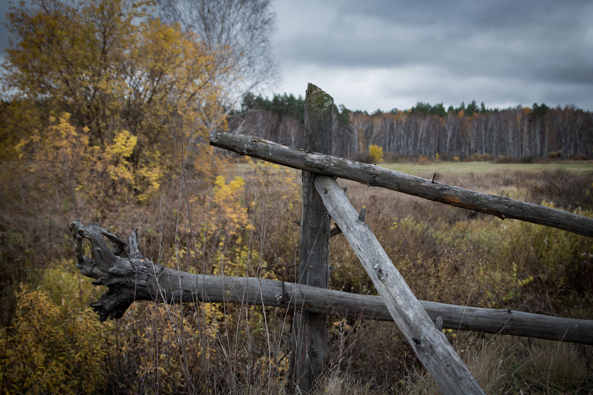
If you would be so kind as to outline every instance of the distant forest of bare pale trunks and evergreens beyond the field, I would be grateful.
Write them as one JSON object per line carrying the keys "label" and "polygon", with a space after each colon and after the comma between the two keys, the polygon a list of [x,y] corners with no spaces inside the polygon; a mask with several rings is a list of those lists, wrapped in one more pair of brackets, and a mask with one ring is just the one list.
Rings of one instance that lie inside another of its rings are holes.
{"label": "distant forest of bare pale trunks and evergreens beyond the field", "polygon": [[[303,127],[304,99],[292,94],[271,100],[247,94],[229,122],[234,133],[296,147]],[[472,101],[445,110],[442,103],[417,102],[409,110],[372,114],[334,105],[332,137],[333,155],[346,158],[364,158],[369,146],[378,145],[394,158],[586,159],[593,154],[593,114],[537,103],[500,110]]]}

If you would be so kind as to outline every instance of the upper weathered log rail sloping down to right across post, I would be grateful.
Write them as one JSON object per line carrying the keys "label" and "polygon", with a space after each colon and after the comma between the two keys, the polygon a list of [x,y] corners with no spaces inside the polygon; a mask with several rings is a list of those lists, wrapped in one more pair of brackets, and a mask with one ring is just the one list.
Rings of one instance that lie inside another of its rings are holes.
{"label": "upper weathered log rail sloping down to right across post", "polygon": [[338,158],[337,156],[295,149],[283,144],[240,134],[218,133],[210,140],[216,147],[241,155],[267,160],[308,172],[351,179],[390,190],[419,196],[428,200],[467,208],[501,219],[511,218],[556,227],[593,236],[593,219],[543,205],[525,203],[508,197],[496,196],[452,187],[441,182],[400,173],[375,165]]}

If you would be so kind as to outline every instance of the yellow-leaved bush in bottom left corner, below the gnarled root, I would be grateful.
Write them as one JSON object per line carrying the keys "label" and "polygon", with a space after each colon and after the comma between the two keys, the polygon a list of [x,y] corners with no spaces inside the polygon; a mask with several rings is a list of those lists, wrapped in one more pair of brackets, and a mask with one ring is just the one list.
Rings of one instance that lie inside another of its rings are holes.
{"label": "yellow-leaved bush in bottom left corner, below the gnarled root", "polygon": [[106,367],[99,340],[105,327],[95,314],[90,309],[65,314],[47,291],[25,285],[16,297],[15,321],[0,329],[6,341],[4,380],[9,392],[100,390]]}

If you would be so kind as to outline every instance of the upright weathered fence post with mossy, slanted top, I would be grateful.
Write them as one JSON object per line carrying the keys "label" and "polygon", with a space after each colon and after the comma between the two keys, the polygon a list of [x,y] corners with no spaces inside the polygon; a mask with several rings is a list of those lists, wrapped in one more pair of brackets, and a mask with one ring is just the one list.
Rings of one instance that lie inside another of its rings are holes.
{"label": "upright weathered fence post with mossy, slanted top", "polygon": [[[304,148],[331,153],[333,98],[313,84],[305,95]],[[315,174],[302,172],[301,256],[299,283],[327,288],[329,283],[330,217],[314,185]],[[315,384],[326,363],[327,318],[324,314],[299,313],[295,306],[295,350],[292,379],[302,393]]]}

